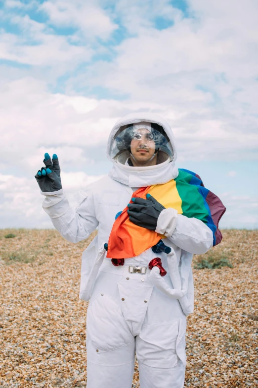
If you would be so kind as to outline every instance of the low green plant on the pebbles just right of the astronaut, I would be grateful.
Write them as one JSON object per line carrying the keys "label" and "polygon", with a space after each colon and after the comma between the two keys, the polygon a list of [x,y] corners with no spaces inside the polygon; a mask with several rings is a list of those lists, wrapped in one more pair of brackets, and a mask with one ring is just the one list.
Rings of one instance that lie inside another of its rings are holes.
{"label": "low green plant on the pebbles just right of the astronaut", "polygon": [[230,252],[219,252],[218,250],[212,250],[197,259],[194,268],[202,270],[204,268],[215,269],[222,267],[233,268],[232,264],[228,260],[231,256]]}

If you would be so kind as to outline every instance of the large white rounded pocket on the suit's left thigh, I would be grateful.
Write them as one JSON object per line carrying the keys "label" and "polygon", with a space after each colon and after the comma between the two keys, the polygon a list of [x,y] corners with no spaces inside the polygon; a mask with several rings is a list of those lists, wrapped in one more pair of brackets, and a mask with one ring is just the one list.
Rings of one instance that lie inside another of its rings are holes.
{"label": "large white rounded pocket on the suit's left thigh", "polygon": [[87,337],[98,352],[117,349],[134,340],[117,301],[98,295],[87,310]]}

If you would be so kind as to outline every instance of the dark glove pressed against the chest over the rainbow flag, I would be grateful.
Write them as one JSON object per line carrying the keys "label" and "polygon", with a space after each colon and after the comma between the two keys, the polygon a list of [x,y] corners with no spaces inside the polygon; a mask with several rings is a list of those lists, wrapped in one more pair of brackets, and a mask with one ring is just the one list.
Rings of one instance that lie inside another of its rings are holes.
{"label": "dark glove pressed against the chest over the rainbow flag", "polygon": [[150,194],[147,199],[132,198],[133,204],[128,204],[129,220],[138,226],[155,230],[160,213],[166,209]]}

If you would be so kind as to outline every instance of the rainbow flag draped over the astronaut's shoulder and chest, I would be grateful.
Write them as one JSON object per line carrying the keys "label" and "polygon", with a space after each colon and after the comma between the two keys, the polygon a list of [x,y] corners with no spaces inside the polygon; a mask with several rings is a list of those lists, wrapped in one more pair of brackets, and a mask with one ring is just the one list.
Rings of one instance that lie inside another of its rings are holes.
{"label": "rainbow flag draped over the astronaut's shoulder and chest", "polygon": [[[222,234],[218,229],[218,222],[226,208],[214,193],[204,187],[199,175],[183,168],[178,171],[177,178],[164,184],[141,187],[132,197],[146,199],[146,194],[149,193],[165,208],[173,208],[178,214],[201,220],[213,231],[213,245],[219,244]],[[108,241],[108,258],[127,259],[138,256],[165,237],[154,230],[135,225],[129,220],[127,211],[128,207],[113,224]]]}

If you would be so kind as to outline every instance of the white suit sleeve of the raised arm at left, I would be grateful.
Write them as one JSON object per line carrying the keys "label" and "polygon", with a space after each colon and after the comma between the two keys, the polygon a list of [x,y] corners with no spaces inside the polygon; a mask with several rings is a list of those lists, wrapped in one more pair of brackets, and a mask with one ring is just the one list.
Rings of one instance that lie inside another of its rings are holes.
{"label": "white suit sleeve of the raised arm at left", "polygon": [[82,203],[73,209],[64,192],[46,195],[43,209],[51,218],[54,227],[70,242],[86,239],[98,226],[92,194],[86,194]]}

